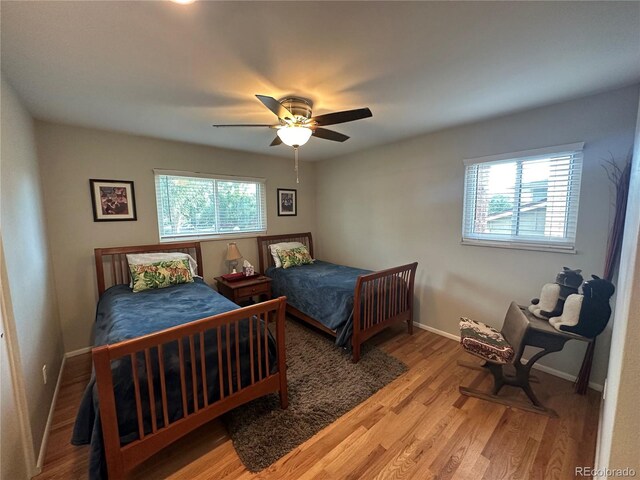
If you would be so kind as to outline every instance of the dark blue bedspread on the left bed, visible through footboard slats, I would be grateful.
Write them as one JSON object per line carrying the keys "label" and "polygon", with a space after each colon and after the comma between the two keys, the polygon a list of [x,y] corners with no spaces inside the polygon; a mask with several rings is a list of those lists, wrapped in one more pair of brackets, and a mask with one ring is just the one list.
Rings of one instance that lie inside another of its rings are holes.
{"label": "dark blue bedspread on the left bed, visible through footboard slats", "polygon": [[[200,318],[216,315],[239,308],[215,292],[201,279],[195,279],[194,283],[176,285],[159,290],[148,290],[132,293],[126,285],[118,285],[108,289],[100,298],[96,312],[95,345],[112,344],[122,340],[140,337],[142,335],[164,330],[169,327],[181,325]],[[256,336],[256,322],[253,322],[253,335]],[[226,331],[222,331],[223,348],[226,344]],[[261,328],[262,334],[264,329]],[[229,329],[231,345],[234,345],[235,331]],[[250,382],[251,371],[249,367],[249,322],[244,320],[238,328],[241,353],[241,384],[246,386]],[[255,340],[254,340],[255,341]],[[187,405],[188,411],[193,409],[193,388],[191,384],[190,347],[188,341],[183,341],[185,353],[185,377],[187,381]],[[234,347],[233,347],[234,348]],[[203,392],[201,386],[201,373],[199,362],[199,338],[195,338],[196,365],[198,378],[199,404],[203,405]],[[275,343],[269,338],[270,366],[274,370]],[[152,370],[156,383],[159,376],[157,372],[157,350],[152,349]],[[166,369],[165,379],[167,384],[167,402],[169,410],[169,423],[183,416],[182,394],[180,389],[180,374],[178,361],[177,342],[167,343],[163,348],[163,358]],[[207,371],[207,393],[211,403],[220,398],[218,378],[217,339],[214,330],[205,333],[205,359]],[[246,360],[246,361],[245,361]],[[223,363],[226,362],[223,357]],[[234,363],[234,362],[232,362]],[[257,361],[254,367],[257,368]],[[149,392],[146,387],[146,368],[144,356],[140,355],[136,361],[137,371],[140,372],[140,395],[143,408],[145,431],[151,431],[151,416],[149,414]],[[265,368],[266,370],[266,368]],[[225,394],[228,392],[227,366],[223,367],[225,382]],[[126,444],[138,438],[137,416],[133,379],[131,375],[131,362],[129,359],[121,359],[112,362],[114,378],[114,392],[116,408],[118,411],[118,427],[121,443]],[[255,372],[257,375],[257,371]],[[235,368],[232,370],[232,385],[237,389]],[[156,391],[156,412],[158,426],[162,426],[162,405],[159,393],[159,385],[154,386]],[[74,445],[91,444],[90,471],[91,479],[106,478],[106,464],[104,461],[104,447],[102,442],[102,430],[98,415],[98,392],[95,378],[92,375],[87,386],[78,416],[76,418],[72,443]]]}

